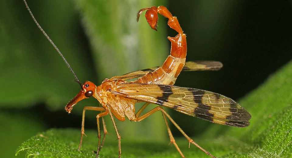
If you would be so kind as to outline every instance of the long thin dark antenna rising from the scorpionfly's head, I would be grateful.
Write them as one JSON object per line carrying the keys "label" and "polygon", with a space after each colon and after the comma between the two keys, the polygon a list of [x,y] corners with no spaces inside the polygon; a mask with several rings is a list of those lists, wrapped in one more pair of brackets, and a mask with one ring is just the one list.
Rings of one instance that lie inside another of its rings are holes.
{"label": "long thin dark antenna rising from the scorpionfly's head", "polygon": [[33,18],[33,21],[36,23],[37,27],[39,27],[40,31],[43,33],[43,35],[45,35],[47,37],[47,39],[50,41],[50,43],[54,46],[55,50],[57,50],[57,52],[60,54],[60,56],[63,58],[64,62],[67,64],[68,68],[71,70],[72,74],[75,77],[75,80],[77,83],[80,84],[81,88],[82,88],[82,84],[80,83],[78,77],[76,76],[76,74],[74,73],[74,71],[72,70],[70,64],[67,62],[67,60],[65,59],[65,57],[63,56],[63,54],[61,53],[61,51],[58,49],[58,47],[55,45],[55,43],[50,39],[50,37],[47,35],[47,33],[43,30],[43,28],[40,26],[40,24],[36,21],[36,18],[33,16],[33,13],[30,11],[30,7],[28,7],[26,0],[23,0],[23,2],[25,3],[25,6],[28,10],[28,12],[30,12],[31,17]]}

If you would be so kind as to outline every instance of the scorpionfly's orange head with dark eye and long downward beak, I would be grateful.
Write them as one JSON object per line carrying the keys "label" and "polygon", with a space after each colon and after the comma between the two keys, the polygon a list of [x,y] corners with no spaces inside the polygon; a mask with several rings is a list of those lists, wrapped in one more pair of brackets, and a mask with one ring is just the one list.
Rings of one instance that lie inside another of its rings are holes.
{"label": "scorpionfly's orange head with dark eye and long downward beak", "polygon": [[66,112],[70,113],[73,106],[79,101],[91,97],[96,91],[96,85],[90,81],[81,84],[81,91],[65,106]]}

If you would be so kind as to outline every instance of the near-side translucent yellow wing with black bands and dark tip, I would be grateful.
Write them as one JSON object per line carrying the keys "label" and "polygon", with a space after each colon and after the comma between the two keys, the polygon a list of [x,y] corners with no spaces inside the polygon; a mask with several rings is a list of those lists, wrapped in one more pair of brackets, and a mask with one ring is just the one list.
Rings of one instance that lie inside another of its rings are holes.
{"label": "near-side translucent yellow wing with black bands and dark tip", "polygon": [[210,91],[163,84],[120,84],[112,93],[172,108],[210,122],[245,127],[251,115],[231,98]]}

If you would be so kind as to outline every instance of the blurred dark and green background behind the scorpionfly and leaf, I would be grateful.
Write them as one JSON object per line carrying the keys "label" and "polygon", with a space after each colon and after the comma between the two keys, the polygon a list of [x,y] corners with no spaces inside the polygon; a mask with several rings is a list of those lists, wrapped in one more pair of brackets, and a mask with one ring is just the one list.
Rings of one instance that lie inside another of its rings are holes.
{"label": "blurred dark and green background behind the scorpionfly and leaf", "polygon": [[[104,78],[163,63],[170,49],[166,37],[176,32],[162,16],[158,32],[148,26],[144,14],[139,23],[135,21],[139,9],[152,5],[165,5],[178,17],[187,35],[187,60],[224,64],[216,72],[184,72],[176,85],[238,100],[292,59],[291,1],[28,0],[28,4],[81,81],[100,84]],[[92,98],[81,101],[68,115],[64,106],[80,88],[71,72],[22,1],[4,1],[0,8],[0,156],[14,157],[17,147],[38,132],[79,129],[84,105],[97,106],[98,102]],[[169,112],[190,136],[220,126]],[[95,115],[86,112],[85,133],[96,129]],[[115,139],[108,117],[106,122],[112,133],[109,137]],[[160,113],[139,123],[118,122],[118,127],[125,139],[169,141]],[[174,136],[181,136],[172,129]]]}

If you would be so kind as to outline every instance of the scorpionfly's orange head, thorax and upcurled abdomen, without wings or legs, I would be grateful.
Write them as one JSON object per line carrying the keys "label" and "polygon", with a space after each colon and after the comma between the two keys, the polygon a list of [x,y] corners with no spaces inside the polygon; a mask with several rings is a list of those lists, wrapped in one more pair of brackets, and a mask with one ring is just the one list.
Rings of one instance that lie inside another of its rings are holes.
{"label": "scorpionfly's orange head, thorax and upcurled abdomen, without wings or legs", "polygon": [[[163,65],[153,72],[149,72],[133,82],[142,84],[173,85],[185,65],[187,51],[186,34],[183,33],[177,18],[172,16],[172,14],[166,7],[153,6],[147,9],[148,10],[145,14],[145,17],[152,29],[156,30],[159,13],[169,19],[169,27],[176,30],[178,32],[178,35],[176,35],[175,37],[168,37],[171,42],[171,51],[170,55],[166,58]],[[144,10],[145,9],[141,9],[141,11]],[[127,116],[129,120],[135,121],[135,103],[137,103],[137,100],[125,98],[111,93],[110,91],[117,85],[127,82],[124,80],[118,80],[113,78],[105,79],[100,86],[96,86],[94,83],[86,81],[82,85],[82,90],[76,95],[76,97],[72,101],[70,101],[66,105],[65,110],[70,113],[73,106],[78,101],[90,97],[85,96],[87,91],[93,91],[94,93],[92,94],[92,96],[96,98],[106,110],[108,108],[107,105],[109,105],[111,111],[113,112],[113,115],[118,120],[124,121],[125,116]]]}

